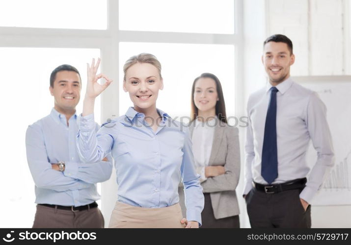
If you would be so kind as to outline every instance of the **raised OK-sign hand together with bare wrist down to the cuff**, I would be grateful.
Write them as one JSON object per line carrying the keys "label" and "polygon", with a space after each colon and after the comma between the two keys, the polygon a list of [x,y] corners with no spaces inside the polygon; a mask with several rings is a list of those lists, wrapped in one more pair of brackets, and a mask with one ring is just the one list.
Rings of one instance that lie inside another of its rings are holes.
{"label": "raised OK-sign hand together with bare wrist down to the cuff", "polygon": [[[95,59],[93,59],[90,66],[88,63],[86,63],[88,82],[86,84],[85,98],[83,102],[83,117],[94,113],[95,98],[99,96],[112,82],[112,80],[108,79],[108,77],[104,74],[96,75],[99,65],[100,58],[98,59],[98,62],[96,62],[96,65]],[[99,84],[98,80],[102,77],[105,78],[106,82],[104,84]]]}

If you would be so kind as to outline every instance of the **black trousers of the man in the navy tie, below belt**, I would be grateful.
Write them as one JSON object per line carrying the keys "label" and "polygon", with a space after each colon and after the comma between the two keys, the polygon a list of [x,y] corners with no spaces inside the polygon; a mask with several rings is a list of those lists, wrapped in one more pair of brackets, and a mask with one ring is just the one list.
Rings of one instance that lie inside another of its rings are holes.
{"label": "black trousers of the man in the navy tie, below belt", "polygon": [[266,194],[252,188],[245,200],[252,228],[311,228],[311,205],[303,209],[298,189]]}

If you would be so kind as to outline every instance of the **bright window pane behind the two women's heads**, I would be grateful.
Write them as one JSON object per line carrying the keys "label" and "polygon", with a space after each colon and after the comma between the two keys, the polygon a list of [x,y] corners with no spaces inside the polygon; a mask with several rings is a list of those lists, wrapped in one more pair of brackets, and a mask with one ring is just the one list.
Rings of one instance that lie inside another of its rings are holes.
{"label": "bright window pane behind the two women's heads", "polygon": [[148,52],[162,64],[163,90],[157,107],[172,118],[190,115],[193,80],[201,73],[214,73],[222,84],[227,116],[235,115],[234,46],[160,43],[120,43],[120,115],[133,106],[122,89],[123,64],[132,55]]}

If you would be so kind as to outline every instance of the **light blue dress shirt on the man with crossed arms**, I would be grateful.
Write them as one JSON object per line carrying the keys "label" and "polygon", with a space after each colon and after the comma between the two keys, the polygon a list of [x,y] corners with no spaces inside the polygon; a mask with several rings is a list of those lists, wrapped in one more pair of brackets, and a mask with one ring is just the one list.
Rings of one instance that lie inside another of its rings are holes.
{"label": "light blue dress shirt on the man with crossed arms", "polygon": [[[93,122],[94,129],[98,125]],[[69,119],[54,108],[50,115],[29,125],[26,134],[27,161],[35,183],[35,203],[81,206],[100,199],[97,182],[108,180],[111,161],[82,163],[76,147],[77,115]],[[52,169],[64,161],[65,171]]]}

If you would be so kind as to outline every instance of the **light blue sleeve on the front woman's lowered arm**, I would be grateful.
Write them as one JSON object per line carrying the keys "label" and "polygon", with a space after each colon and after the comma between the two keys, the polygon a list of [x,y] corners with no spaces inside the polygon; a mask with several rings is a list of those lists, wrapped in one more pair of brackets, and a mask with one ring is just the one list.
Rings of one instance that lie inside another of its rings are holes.
{"label": "light blue sleeve on the front woman's lowered arm", "polygon": [[202,187],[199,181],[200,175],[196,173],[194,167],[194,157],[192,154],[189,128],[184,128],[184,133],[185,139],[183,146],[181,176],[184,185],[187,220],[197,221],[201,225],[201,212],[204,208],[204,195],[202,193]]}

